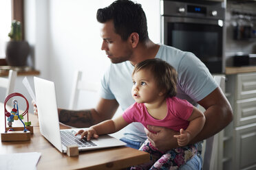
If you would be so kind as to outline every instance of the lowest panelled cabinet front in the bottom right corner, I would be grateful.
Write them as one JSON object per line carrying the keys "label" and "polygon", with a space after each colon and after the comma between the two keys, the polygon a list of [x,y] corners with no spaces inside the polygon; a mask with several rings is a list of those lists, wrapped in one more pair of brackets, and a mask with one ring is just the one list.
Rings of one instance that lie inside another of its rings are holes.
{"label": "lowest panelled cabinet front in the bottom right corner", "polygon": [[256,169],[256,123],[235,128],[234,169]]}

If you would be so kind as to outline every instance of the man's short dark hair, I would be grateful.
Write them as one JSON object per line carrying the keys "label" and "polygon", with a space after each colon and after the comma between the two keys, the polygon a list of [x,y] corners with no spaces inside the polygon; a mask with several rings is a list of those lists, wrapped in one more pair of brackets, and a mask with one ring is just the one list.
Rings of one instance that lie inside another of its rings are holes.
{"label": "man's short dark hair", "polygon": [[108,7],[98,9],[97,20],[99,23],[113,20],[115,32],[122,40],[127,40],[133,32],[138,33],[140,42],[149,38],[146,15],[139,3],[129,0],[114,1]]}

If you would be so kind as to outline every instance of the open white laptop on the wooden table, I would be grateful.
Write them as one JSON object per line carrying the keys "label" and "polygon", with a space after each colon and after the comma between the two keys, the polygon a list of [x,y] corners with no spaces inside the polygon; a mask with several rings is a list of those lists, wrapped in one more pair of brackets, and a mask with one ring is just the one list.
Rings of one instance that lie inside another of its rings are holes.
{"label": "open white laptop on the wooden table", "polygon": [[78,145],[79,151],[126,145],[109,135],[103,135],[90,141],[87,141],[86,138],[81,140],[80,136],[74,136],[78,130],[81,130],[79,128],[60,130],[54,82],[34,77],[34,88],[40,132],[59,151],[66,153],[67,145],[74,144]]}

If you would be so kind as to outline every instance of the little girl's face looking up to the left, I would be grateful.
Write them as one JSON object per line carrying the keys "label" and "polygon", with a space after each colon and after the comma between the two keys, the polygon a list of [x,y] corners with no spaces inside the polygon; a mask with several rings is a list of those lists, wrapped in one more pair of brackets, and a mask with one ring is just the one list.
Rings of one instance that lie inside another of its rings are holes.
{"label": "little girl's face looking up to the left", "polygon": [[152,103],[162,94],[150,71],[141,69],[134,73],[132,80],[131,95],[137,103]]}

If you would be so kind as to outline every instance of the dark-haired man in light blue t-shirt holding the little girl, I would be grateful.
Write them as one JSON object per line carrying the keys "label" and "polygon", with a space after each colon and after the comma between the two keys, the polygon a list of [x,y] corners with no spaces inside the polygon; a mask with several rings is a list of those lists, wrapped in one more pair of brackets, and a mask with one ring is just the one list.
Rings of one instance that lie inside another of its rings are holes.
{"label": "dark-haired man in light blue t-shirt holding the little girl", "polygon": [[[107,8],[99,9],[97,20],[102,24],[101,49],[111,60],[109,69],[102,79],[101,98],[96,108],[91,110],[61,110],[59,117],[62,123],[74,127],[89,127],[100,121],[111,119],[118,106],[125,110],[134,103],[131,97],[131,73],[134,65],[150,58],[161,58],[178,71],[178,95],[191,104],[200,104],[206,111],[204,128],[192,143],[220,132],[233,119],[230,104],[217,87],[206,66],[193,53],[180,51],[166,45],[153,43],[147,33],[147,19],[140,4],[128,0],[118,0]],[[164,127],[148,127],[151,133],[144,130],[140,123],[132,123],[121,138],[130,147],[139,148],[146,139],[165,151],[178,147],[172,130]],[[146,131],[146,133],[145,133]],[[200,169],[201,161],[194,156],[181,169]]]}

